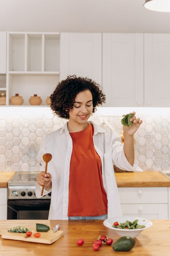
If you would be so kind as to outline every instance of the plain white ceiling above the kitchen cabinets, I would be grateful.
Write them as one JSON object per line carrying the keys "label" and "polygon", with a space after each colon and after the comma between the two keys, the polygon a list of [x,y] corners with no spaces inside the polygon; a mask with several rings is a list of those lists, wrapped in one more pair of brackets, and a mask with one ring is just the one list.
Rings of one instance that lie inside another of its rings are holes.
{"label": "plain white ceiling above the kitchen cabinets", "polygon": [[0,0],[0,31],[170,33],[145,0]]}

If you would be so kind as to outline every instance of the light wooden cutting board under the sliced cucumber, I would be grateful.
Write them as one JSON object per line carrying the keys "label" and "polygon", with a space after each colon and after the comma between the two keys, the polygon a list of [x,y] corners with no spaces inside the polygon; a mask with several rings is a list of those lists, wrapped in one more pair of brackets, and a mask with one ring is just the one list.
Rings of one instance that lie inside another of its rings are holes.
{"label": "light wooden cutting board under the sliced cucumber", "polygon": [[[38,232],[41,234],[39,238],[36,238],[33,236],[34,233],[37,233],[36,231],[33,231],[32,235],[28,237],[26,233],[11,233],[8,232],[8,229],[12,227],[8,227],[6,229],[0,228],[0,235],[4,239],[12,239],[12,240],[20,240],[20,241],[26,241],[26,242],[34,242],[34,243],[43,243],[43,244],[52,244],[56,240],[58,240],[60,237],[63,236],[64,231],[63,230],[57,230],[56,232],[53,231],[53,229],[50,229],[47,232]],[[35,230],[34,228],[30,228],[31,230]]]}

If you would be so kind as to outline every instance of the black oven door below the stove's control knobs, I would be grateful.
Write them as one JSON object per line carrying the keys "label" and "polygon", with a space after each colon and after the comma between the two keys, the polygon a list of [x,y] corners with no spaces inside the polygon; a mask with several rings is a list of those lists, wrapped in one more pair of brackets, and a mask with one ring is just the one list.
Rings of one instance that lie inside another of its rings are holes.
{"label": "black oven door below the stove's control knobs", "polygon": [[50,199],[7,200],[7,219],[48,219]]}

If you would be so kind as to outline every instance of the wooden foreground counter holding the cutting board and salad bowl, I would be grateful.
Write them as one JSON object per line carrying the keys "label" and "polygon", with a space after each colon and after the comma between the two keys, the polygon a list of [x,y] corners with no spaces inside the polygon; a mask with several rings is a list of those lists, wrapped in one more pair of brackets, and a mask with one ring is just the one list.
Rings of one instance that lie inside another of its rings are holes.
{"label": "wooden foreground counter holding the cutting board and salad bowl", "polygon": [[[112,229],[106,228],[103,221],[49,221],[31,220],[31,225],[44,223],[53,228],[60,224],[60,230],[64,230],[64,236],[53,244],[39,244],[24,241],[2,239],[0,236],[0,255],[16,256],[167,256],[170,250],[170,222],[169,220],[151,220],[153,226],[143,230],[136,238],[135,245],[129,252],[115,252],[112,246],[102,245],[98,252],[93,250],[93,242],[100,235],[106,235],[115,243],[119,237]],[[6,220],[0,221],[1,228],[14,226],[30,226],[30,220]],[[48,233],[47,233],[48,236]],[[84,239],[82,246],[77,245],[79,238]]]}

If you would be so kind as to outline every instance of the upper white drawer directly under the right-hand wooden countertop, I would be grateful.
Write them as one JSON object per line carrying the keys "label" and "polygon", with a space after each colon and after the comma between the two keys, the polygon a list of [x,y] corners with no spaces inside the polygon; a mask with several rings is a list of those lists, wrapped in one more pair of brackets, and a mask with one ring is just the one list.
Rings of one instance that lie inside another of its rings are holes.
{"label": "upper white drawer directly under the right-hand wooden countertop", "polygon": [[168,203],[167,187],[119,187],[121,203]]}

